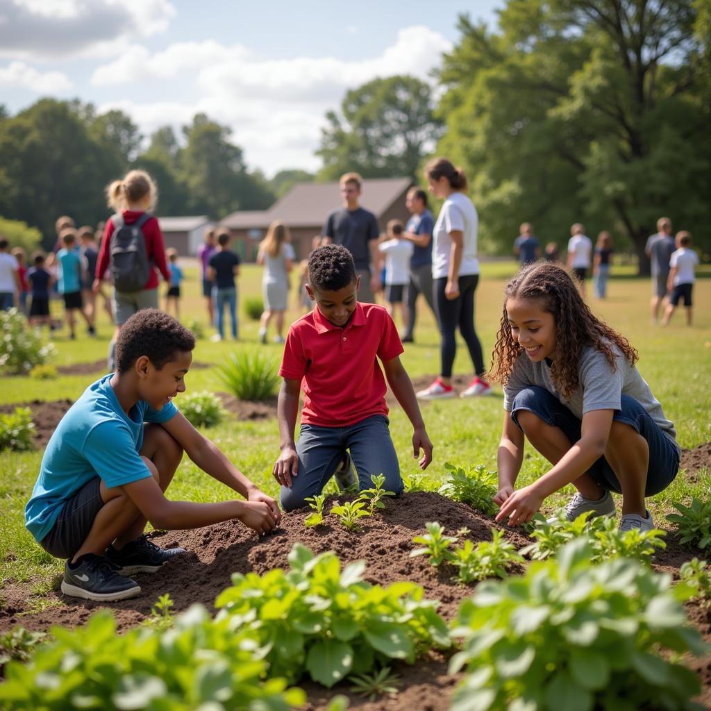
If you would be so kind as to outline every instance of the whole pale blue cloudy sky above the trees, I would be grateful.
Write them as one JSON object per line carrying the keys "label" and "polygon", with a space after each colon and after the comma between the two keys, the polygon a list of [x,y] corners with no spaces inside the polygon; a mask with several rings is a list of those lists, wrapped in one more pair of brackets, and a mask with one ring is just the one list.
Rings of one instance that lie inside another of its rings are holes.
{"label": "whole pale blue cloudy sky above the trees", "polygon": [[118,108],[146,136],[205,112],[250,168],[316,170],[325,114],[376,77],[432,81],[467,13],[504,0],[0,0],[0,103]]}

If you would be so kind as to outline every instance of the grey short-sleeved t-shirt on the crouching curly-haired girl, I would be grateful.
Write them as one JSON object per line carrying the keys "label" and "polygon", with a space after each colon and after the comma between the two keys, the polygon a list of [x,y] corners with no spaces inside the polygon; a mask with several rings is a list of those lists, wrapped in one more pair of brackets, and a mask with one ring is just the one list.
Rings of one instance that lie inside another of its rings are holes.
{"label": "grey short-sleeved t-shirt on the crouching curly-haired girl", "polygon": [[652,395],[649,385],[619,348],[612,348],[615,353],[615,370],[610,368],[604,353],[592,346],[584,346],[578,367],[579,386],[569,399],[557,391],[550,377],[550,367],[545,360],[533,363],[528,355],[521,353],[513,365],[508,383],[503,387],[503,409],[510,412],[516,393],[529,385],[545,387],[545,390],[555,395],[578,419],[582,419],[586,412],[592,410],[619,410],[621,395],[629,395],[648,412],[662,432],[679,449],[674,424],[664,416],[662,406]]}

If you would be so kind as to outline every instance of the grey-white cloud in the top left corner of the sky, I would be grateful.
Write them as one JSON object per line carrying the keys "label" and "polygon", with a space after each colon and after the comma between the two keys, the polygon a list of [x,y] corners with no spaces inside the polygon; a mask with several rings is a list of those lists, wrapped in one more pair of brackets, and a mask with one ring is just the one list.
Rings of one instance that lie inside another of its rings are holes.
{"label": "grey-white cloud in the top left corner of the sky", "polygon": [[106,56],[166,31],[171,0],[0,0],[0,55],[33,60]]}

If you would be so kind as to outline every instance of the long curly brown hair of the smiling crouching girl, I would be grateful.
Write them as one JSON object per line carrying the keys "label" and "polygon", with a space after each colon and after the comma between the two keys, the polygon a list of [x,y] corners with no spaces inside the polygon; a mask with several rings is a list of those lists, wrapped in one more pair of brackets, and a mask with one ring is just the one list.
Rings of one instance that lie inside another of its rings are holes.
{"label": "long curly brown hair of the smiling crouching girl", "polygon": [[637,362],[637,351],[621,333],[604,324],[590,311],[563,267],[552,262],[536,262],[521,269],[506,285],[501,327],[496,334],[492,354],[491,380],[500,380],[506,385],[513,364],[523,351],[511,335],[508,322],[506,303],[513,298],[540,299],[543,311],[553,315],[555,350],[565,354],[565,357],[553,360],[550,375],[563,397],[570,397],[579,386],[578,366],[584,346],[593,346],[604,353],[613,370],[616,369],[613,346],[619,348],[631,365]]}

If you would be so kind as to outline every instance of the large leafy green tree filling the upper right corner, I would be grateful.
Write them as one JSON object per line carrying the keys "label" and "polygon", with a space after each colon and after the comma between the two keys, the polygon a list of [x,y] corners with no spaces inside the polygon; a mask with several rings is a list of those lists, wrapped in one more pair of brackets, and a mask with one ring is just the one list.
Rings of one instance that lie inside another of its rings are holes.
{"label": "large leafy green tree filling the upper right corner", "polygon": [[509,0],[493,33],[460,18],[440,76],[439,152],[471,173],[485,241],[508,249],[532,220],[560,242],[583,220],[629,240],[644,269],[658,216],[707,222],[695,21],[684,0]]}

